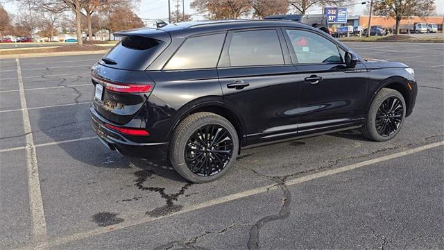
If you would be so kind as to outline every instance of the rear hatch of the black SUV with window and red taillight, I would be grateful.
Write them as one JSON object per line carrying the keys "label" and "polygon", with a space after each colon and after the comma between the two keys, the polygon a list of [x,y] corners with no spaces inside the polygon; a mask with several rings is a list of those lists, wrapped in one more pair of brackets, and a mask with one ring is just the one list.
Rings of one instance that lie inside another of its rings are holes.
{"label": "rear hatch of the black SUV with window and red taillight", "polygon": [[145,69],[168,47],[171,37],[153,28],[114,35],[123,40],[92,67],[92,103],[99,115],[123,125],[141,110],[153,90],[155,83]]}

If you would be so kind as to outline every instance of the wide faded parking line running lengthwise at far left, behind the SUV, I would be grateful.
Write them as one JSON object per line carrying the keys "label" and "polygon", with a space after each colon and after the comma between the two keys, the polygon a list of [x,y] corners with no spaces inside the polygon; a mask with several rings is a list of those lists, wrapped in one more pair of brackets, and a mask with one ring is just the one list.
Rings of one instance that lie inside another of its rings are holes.
{"label": "wide faded parking line running lengthwise at far left, behind the SUV", "polygon": [[28,169],[28,194],[29,208],[31,210],[31,222],[33,224],[33,247],[34,249],[49,249],[48,233],[46,231],[46,221],[44,218],[42,191],[40,190],[39,169],[37,167],[37,155],[33,134],[31,133],[31,123],[29,122],[28,109],[26,108],[26,98],[23,87],[22,71],[19,59],[17,62],[17,76],[20,90],[20,103],[22,105],[22,118],[24,124],[26,140],[26,168]]}

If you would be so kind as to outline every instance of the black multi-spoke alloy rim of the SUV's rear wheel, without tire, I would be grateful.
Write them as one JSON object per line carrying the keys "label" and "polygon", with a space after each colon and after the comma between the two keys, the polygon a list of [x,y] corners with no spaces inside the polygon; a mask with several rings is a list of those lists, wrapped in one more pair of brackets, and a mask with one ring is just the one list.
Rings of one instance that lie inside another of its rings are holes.
{"label": "black multi-spoke alloy rim of the SUV's rear wheel, without tire", "polygon": [[219,124],[207,124],[196,129],[185,146],[185,163],[198,176],[219,174],[230,162],[233,138]]}

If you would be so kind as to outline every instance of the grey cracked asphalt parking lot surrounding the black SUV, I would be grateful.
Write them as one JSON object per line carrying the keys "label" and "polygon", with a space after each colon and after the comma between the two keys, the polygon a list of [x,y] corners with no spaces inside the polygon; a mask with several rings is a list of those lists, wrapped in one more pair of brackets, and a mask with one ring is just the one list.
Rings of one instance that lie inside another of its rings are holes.
{"label": "grey cracked asphalt parking lot surrounding the black SUV", "polygon": [[199,185],[96,140],[100,56],[0,60],[0,249],[443,249],[444,44],[348,46],[415,69],[396,138],[246,149]]}

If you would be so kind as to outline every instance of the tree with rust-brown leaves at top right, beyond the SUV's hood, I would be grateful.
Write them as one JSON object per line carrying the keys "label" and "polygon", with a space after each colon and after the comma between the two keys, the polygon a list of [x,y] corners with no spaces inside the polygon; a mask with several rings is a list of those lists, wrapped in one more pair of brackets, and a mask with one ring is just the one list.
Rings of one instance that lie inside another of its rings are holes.
{"label": "tree with rust-brown leaves at top right, beyond the SUV's hood", "polygon": [[400,33],[400,22],[412,16],[424,16],[435,8],[434,0],[380,0],[373,8],[378,15],[388,15],[396,21],[396,34]]}

